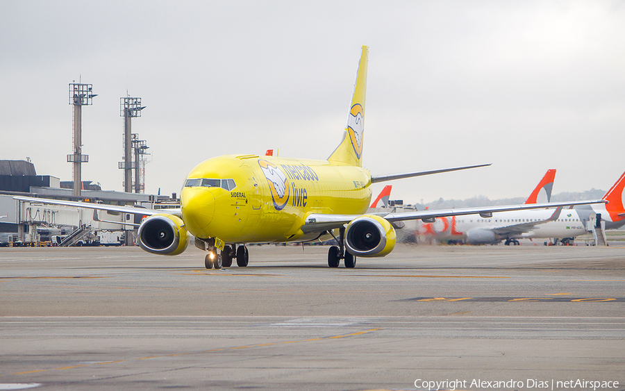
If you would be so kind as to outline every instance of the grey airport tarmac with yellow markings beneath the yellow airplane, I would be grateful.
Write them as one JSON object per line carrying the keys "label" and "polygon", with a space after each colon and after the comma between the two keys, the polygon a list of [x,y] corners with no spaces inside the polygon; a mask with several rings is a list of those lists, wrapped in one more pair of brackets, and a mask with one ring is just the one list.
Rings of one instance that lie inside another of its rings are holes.
{"label": "grey airport tarmac with yellow markings beneath the yellow airplane", "polygon": [[623,247],[249,253],[0,249],[0,390],[625,390]]}

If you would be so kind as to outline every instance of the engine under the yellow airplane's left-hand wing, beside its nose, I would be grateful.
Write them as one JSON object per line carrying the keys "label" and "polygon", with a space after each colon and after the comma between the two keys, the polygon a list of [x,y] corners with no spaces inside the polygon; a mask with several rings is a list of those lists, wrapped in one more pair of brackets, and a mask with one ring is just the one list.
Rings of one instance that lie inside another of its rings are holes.
{"label": "engine under the yellow airplane's left-hand wing, beside its nose", "polygon": [[180,217],[153,215],[139,226],[139,245],[149,253],[175,256],[187,249],[187,229]]}

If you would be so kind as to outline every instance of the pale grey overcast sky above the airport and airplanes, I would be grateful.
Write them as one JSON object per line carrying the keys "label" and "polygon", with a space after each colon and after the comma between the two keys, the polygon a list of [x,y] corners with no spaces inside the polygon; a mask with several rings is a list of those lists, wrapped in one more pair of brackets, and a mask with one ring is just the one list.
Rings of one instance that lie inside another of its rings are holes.
{"label": "pale grey overcast sky above the airport and airplanes", "polygon": [[551,168],[554,194],[608,190],[625,171],[625,2],[597,0],[0,0],[0,158],[71,181],[80,79],[99,94],[83,180],[104,190],[122,190],[126,91],[147,106],[149,193],[228,153],[325,159],[363,44],[372,174],[493,163],[394,181],[393,199],[524,197]]}

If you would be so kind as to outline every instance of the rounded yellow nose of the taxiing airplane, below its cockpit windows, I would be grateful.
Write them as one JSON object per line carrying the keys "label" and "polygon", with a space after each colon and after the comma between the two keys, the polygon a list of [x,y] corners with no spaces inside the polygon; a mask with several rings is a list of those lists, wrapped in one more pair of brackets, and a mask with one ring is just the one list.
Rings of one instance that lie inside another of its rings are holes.
{"label": "rounded yellow nose of the taxiing airplane, below its cockpit windows", "polygon": [[215,215],[215,197],[208,189],[183,188],[180,196],[183,222],[198,238],[210,238],[208,225]]}

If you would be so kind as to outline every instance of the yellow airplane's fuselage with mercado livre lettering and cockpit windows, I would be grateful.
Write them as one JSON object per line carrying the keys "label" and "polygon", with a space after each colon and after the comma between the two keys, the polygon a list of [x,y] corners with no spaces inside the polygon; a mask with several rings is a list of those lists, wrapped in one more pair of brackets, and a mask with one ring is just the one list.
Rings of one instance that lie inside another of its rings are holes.
{"label": "yellow airplane's fuselage with mercado livre lettering and cockpit windows", "polygon": [[[215,180],[222,180],[222,185]],[[363,214],[371,201],[369,185],[371,174],[353,165],[220,156],[200,163],[188,175],[181,192],[182,217],[187,230],[202,239],[219,238],[226,243],[310,240],[319,234],[301,231],[308,215]]]}

